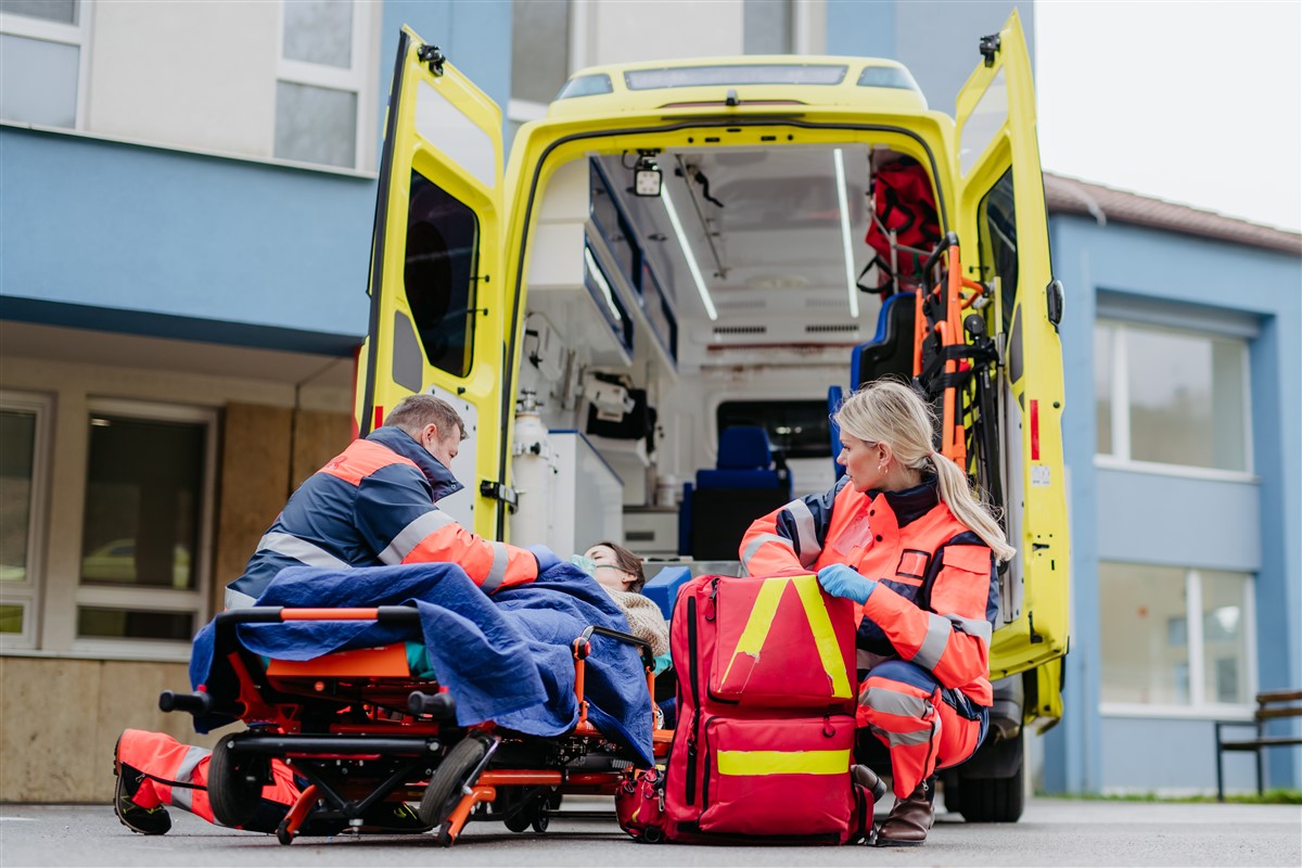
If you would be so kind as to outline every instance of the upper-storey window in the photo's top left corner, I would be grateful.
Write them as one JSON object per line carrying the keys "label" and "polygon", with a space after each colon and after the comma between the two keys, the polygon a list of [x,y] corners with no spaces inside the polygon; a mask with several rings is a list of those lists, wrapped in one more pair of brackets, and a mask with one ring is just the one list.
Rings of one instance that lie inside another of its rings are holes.
{"label": "upper-storey window in the photo's top left corner", "polygon": [[81,0],[0,0],[0,120],[81,125],[89,20]]}

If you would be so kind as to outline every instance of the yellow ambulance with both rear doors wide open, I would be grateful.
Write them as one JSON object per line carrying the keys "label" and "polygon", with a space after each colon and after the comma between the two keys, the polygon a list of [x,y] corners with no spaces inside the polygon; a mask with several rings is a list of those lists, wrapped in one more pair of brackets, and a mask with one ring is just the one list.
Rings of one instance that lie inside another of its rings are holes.
{"label": "yellow ambulance with both rear doors wide open", "polygon": [[[822,492],[829,389],[913,379],[1018,548],[991,734],[945,781],[969,820],[1014,821],[1023,733],[1060,718],[1068,651],[1062,290],[1017,13],[979,49],[953,117],[889,60],[585,69],[504,160],[500,108],[404,31],[357,420],[413,392],[452,401],[466,491],[440,505],[480,535],[728,573],[737,522],[772,505],[698,501],[698,472],[736,458],[725,432],[764,428],[779,497]],[[901,167],[935,224],[911,243],[884,202]]]}

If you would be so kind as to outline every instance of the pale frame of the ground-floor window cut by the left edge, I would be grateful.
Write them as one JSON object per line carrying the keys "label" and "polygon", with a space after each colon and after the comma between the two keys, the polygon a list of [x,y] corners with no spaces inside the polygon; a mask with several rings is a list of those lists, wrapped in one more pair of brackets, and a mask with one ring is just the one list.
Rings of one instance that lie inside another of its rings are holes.
{"label": "pale frame of the ground-floor window cut by the left edge", "polygon": [[0,389],[0,409],[31,411],[35,414],[31,448],[31,495],[27,501],[27,563],[22,582],[0,583],[0,603],[21,605],[22,631],[0,634],[0,648],[33,651],[40,638],[42,590],[44,586],[46,509],[49,502],[49,457],[53,452],[51,437],[53,396],[36,392]]}

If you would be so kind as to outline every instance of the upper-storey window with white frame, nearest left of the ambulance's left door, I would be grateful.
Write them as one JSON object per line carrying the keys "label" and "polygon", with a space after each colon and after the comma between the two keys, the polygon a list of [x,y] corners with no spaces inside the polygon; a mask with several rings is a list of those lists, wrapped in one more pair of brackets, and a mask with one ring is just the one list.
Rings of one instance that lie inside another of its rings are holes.
{"label": "upper-storey window with white frame, nearest left of the ambulance's left door", "polygon": [[368,33],[357,0],[281,4],[276,157],[361,168]]}

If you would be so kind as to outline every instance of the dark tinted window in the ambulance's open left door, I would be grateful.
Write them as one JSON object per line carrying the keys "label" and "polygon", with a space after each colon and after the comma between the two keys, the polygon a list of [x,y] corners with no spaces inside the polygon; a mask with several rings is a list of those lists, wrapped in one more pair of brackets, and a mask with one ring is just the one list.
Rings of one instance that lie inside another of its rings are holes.
{"label": "dark tinted window in the ambulance's open left door", "polygon": [[413,170],[402,282],[426,359],[456,376],[470,372],[478,243],[475,212]]}

